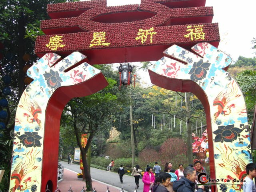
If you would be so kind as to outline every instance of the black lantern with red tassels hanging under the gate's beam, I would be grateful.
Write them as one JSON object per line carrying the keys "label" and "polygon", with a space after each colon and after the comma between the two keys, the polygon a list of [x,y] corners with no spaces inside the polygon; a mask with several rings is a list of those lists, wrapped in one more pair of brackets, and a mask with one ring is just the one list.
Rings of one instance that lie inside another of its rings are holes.
{"label": "black lantern with red tassels hanging under the gate's beam", "polygon": [[132,82],[132,69],[133,66],[130,66],[130,64],[121,64],[118,67],[118,71],[120,74],[120,84],[123,85],[130,85]]}

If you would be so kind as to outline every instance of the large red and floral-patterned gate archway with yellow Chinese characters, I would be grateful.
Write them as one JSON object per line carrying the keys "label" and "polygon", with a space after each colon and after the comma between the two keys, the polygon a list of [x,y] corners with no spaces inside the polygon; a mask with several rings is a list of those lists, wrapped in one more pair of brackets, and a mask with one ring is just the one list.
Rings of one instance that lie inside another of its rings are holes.
{"label": "large red and floral-patterned gate archway with yellow Chinese characters", "polygon": [[[48,35],[38,37],[35,47],[42,58],[27,72],[34,81],[16,112],[10,191],[44,191],[49,181],[56,189],[60,114],[71,98],[107,86],[92,64],[158,59],[149,68],[152,83],[192,92],[204,105],[212,179],[242,179],[251,162],[246,106],[225,71],[231,58],[214,47],[218,24],[210,23],[212,8],[204,5],[205,0],[142,0],[140,5],[118,7],[106,7],[105,0],[49,5],[53,19],[41,24]],[[133,14],[132,20],[122,19]],[[137,17],[142,20],[134,21]],[[196,54],[184,49],[191,46]],[[59,55],[67,57],[61,60]],[[240,190],[240,181],[228,184],[226,188]]]}

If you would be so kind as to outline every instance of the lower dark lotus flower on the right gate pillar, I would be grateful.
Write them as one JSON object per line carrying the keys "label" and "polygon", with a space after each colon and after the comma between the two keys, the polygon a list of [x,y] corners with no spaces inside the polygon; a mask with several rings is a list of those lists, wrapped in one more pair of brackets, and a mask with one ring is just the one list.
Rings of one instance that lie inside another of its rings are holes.
{"label": "lower dark lotus flower on the right gate pillar", "polygon": [[216,134],[214,142],[233,142],[237,139],[240,132],[242,132],[242,130],[234,127],[234,125],[218,126],[218,129],[213,132]]}

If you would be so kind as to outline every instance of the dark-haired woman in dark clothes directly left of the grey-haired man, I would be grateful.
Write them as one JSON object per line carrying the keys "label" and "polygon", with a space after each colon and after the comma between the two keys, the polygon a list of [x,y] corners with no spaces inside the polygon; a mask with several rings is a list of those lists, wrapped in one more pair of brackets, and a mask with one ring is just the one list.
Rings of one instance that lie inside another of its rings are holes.
{"label": "dark-haired woman in dark clothes directly left of the grey-haired man", "polygon": [[171,175],[163,172],[155,179],[153,191],[154,192],[169,192],[167,187],[170,185]]}

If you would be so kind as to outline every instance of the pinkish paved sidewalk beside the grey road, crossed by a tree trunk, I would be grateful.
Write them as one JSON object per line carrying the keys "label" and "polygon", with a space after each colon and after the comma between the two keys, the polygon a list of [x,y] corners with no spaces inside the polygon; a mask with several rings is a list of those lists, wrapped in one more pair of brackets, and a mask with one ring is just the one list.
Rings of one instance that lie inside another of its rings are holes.
{"label": "pinkish paved sidewalk beside the grey road, crossed by a tree trunk", "polygon": [[[77,172],[64,168],[64,178],[62,182],[58,184],[58,189],[61,192],[68,192],[68,190],[70,189],[70,186],[73,192],[81,192],[83,189],[83,186],[84,186],[84,189],[86,189],[85,182],[83,180],[78,180]],[[120,188],[117,188],[115,186],[110,186],[109,184],[105,184],[103,182],[92,179],[92,188],[94,187],[97,192],[106,192],[107,187],[109,187],[110,192],[121,191]]]}

